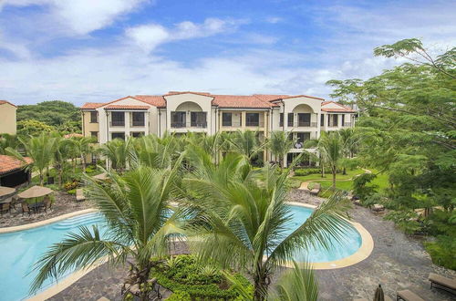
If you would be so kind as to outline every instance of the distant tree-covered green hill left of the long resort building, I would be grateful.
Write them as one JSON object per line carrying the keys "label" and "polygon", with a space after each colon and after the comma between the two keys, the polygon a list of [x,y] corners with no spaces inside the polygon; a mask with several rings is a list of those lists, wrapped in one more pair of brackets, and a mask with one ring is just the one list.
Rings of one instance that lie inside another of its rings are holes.
{"label": "distant tree-covered green hill left of the long resort building", "polygon": [[68,125],[81,129],[79,108],[63,100],[50,100],[36,105],[17,107],[17,121],[35,119],[57,129]]}

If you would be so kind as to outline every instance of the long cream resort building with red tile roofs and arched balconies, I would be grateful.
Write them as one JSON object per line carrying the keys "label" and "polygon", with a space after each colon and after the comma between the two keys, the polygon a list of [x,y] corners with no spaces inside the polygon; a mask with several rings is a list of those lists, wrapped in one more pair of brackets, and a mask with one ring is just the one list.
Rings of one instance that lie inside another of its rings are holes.
{"label": "long cream resort building with red tile roofs and arched balconies", "polygon": [[[306,95],[214,95],[169,92],[162,96],[136,95],[81,107],[84,136],[99,143],[129,136],[165,132],[255,130],[260,140],[275,130],[296,140],[286,161],[303,151],[304,141],[321,131],[353,127],[356,111],[334,101]],[[264,153],[264,160],[274,160]],[[285,162],[286,163],[286,162]]]}

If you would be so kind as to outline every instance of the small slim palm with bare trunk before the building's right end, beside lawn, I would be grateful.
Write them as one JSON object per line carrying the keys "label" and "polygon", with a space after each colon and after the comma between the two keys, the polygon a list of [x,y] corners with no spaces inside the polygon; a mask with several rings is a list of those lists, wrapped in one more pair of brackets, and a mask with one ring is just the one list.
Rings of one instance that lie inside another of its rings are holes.
{"label": "small slim palm with bare trunk before the building's right end, beside lawn", "polygon": [[318,141],[318,151],[333,174],[333,191],[336,190],[336,174],[339,161],[344,156],[344,146],[337,131],[323,132]]}

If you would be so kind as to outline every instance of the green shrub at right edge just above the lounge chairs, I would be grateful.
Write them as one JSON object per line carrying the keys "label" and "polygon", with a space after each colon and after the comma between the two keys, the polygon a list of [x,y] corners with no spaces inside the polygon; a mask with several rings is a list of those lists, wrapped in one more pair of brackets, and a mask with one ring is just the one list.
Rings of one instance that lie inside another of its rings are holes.
{"label": "green shrub at right edge just above the lounge chairs", "polygon": [[439,235],[436,242],[424,243],[430,254],[432,263],[456,270],[456,239],[451,236]]}

